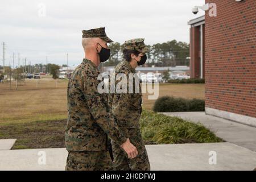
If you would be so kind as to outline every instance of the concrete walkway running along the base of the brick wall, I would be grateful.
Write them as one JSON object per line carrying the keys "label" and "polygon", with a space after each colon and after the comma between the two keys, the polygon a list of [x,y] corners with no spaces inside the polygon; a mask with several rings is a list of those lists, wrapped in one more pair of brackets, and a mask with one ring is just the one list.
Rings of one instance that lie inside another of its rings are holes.
{"label": "concrete walkway running along the base of the brick wall", "polygon": [[211,131],[215,131],[216,135],[224,139],[226,142],[234,143],[238,146],[256,151],[256,127],[207,115],[205,112],[178,112],[162,114],[181,117],[192,122],[200,122]]}

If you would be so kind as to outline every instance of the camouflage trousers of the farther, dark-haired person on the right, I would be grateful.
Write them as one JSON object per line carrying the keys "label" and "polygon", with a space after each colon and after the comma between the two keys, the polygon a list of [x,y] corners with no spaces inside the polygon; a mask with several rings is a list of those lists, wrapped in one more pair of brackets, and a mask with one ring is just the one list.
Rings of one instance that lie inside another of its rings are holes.
{"label": "camouflage trousers of the farther, dark-haired person on the right", "polygon": [[134,159],[129,159],[125,151],[118,144],[111,142],[114,168],[117,171],[150,171],[150,162],[148,160],[147,151],[139,129],[128,129],[130,142],[138,150],[138,155]]}

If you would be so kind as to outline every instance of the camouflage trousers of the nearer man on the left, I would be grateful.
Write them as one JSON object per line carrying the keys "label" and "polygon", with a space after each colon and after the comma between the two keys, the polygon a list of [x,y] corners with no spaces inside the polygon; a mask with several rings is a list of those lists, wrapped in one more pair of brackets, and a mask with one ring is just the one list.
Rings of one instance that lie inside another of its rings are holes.
{"label": "camouflage trousers of the nearer man on the left", "polygon": [[108,151],[69,151],[66,171],[110,171],[113,163]]}

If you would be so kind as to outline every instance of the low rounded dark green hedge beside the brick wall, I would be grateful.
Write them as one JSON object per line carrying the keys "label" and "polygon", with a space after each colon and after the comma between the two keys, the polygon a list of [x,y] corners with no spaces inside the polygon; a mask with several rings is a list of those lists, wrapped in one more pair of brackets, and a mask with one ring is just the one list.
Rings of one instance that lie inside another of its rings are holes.
{"label": "low rounded dark green hedge beside the brick wall", "polygon": [[204,100],[164,96],[155,101],[153,110],[155,112],[204,111],[204,107]]}

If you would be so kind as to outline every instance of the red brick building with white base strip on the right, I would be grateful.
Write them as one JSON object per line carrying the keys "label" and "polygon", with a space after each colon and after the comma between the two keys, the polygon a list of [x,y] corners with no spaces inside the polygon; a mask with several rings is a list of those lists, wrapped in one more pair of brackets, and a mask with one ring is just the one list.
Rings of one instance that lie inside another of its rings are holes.
{"label": "red brick building with white base strip on the right", "polygon": [[255,1],[205,3],[216,3],[217,16],[208,10],[188,23],[191,77],[205,77],[205,113],[256,126]]}

